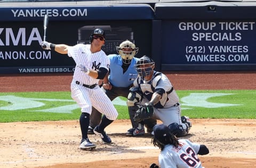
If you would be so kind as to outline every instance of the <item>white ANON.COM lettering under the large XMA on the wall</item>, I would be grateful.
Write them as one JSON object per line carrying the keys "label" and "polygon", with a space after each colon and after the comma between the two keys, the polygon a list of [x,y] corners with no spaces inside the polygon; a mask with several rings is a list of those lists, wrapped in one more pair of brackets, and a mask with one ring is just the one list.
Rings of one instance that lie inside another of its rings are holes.
{"label": "white ANON.COM lettering under the large XMA on the wall", "polygon": [[50,51],[0,52],[0,60],[51,60]]}

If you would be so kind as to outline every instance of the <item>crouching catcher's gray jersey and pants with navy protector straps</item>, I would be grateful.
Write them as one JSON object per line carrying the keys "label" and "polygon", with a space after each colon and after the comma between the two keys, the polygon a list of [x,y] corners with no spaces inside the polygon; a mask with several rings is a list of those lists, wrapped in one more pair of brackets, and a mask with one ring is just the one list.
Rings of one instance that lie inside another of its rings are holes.
{"label": "crouching catcher's gray jersey and pants with navy protector straps", "polygon": [[141,104],[149,102],[153,93],[159,88],[164,89],[165,93],[159,92],[162,98],[154,105],[153,117],[157,120],[161,120],[167,126],[171,123],[179,123],[182,124],[184,129],[187,128],[185,124],[181,123],[179,97],[166,75],[154,71],[152,80],[144,81],[141,77],[138,77],[133,85],[134,87],[139,87],[143,93]]}

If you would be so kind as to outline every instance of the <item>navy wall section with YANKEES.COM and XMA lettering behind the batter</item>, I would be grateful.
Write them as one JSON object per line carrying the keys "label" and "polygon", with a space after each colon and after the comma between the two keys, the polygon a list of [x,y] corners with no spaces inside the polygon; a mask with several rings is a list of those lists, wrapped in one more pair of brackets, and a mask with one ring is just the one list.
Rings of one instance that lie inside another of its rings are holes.
{"label": "navy wall section with YANKEES.COM and XMA lettering behind the batter", "polygon": [[6,15],[0,21],[0,73],[74,71],[73,58],[44,50],[40,46],[44,38],[43,20],[46,13],[49,14],[46,41],[50,43],[69,46],[89,44],[92,31],[102,28],[106,33],[106,43],[102,50],[107,55],[115,54],[116,46],[126,39],[140,48],[137,56],[150,55],[153,9],[149,5],[135,5],[133,9],[135,12],[139,9],[140,12],[147,11],[144,13],[145,19],[141,20],[143,14],[137,13],[138,18],[132,20],[130,17],[134,17],[134,12],[129,17],[121,16],[121,10],[124,13],[131,11],[129,5],[0,8],[0,14]]}

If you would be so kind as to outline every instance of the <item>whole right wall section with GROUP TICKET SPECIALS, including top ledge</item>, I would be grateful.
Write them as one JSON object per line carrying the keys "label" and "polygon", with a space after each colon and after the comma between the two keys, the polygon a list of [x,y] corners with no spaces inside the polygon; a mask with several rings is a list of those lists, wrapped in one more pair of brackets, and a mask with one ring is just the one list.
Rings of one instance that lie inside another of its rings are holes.
{"label": "whole right wall section with GROUP TICKET SPECIALS, including top ledge", "polygon": [[[170,1],[171,2],[171,1]],[[256,70],[256,3],[158,3],[161,70]]]}

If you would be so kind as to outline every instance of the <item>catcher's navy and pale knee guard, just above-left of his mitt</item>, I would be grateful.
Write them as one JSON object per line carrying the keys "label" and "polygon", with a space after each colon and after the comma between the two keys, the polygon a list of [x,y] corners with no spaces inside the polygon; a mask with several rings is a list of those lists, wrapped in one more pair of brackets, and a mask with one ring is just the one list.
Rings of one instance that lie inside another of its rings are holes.
{"label": "catcher's navy and pale knee guard, just above-left of his mitt", "polygon": [[134,106],[137,103],[140,103],[142,100],[142,92],[140,91],[139,88],[132,87],[130,88],[130,93],[128,94],[127,97],[127,106]]}

